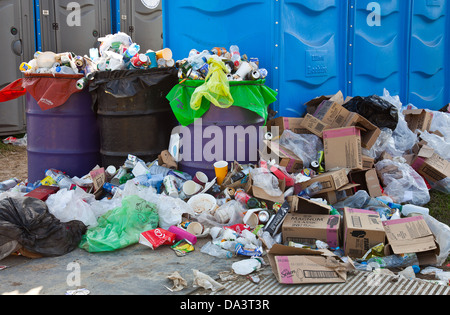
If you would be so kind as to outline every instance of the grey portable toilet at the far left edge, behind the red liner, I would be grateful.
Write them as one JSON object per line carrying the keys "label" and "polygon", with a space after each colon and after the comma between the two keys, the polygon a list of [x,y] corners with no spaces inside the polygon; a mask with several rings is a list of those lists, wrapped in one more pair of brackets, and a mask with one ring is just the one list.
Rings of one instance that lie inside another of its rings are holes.
{"label": "grey portable toilet at the far left edge, behind the red liner", "polygon": [[[22,77],[19,66],[32,59],[34,11],[32,0],[0,0],[0,89]],[[0,135],[26,132],[25,98],[0,103]]]}

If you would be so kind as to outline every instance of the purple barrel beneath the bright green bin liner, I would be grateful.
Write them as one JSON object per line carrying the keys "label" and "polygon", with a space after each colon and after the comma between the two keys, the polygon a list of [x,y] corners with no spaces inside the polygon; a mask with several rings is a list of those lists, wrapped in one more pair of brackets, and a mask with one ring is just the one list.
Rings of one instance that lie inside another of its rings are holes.
{"label": "purple barrel beneath the bright green bin liner", "polygon": [[264,123],[264,118],[248,109],[238,106],[224,109],[211,104],[201,125],[181,128],[183,160],[178,163],[179,169],[191,176],[200,171],[212,180],[216,177],[213,164],[217,161],[257,163],[263,136],[260,127]]}

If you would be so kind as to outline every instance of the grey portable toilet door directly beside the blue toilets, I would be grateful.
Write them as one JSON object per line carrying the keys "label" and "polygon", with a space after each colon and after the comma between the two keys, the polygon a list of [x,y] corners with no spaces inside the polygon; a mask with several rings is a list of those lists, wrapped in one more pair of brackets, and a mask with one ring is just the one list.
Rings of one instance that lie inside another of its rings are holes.
{"label": "grey portable toilet door directly beside the blue toilets", "polygon": [[120,30],[142,50],[163,48],[161,0],[120,0]]}

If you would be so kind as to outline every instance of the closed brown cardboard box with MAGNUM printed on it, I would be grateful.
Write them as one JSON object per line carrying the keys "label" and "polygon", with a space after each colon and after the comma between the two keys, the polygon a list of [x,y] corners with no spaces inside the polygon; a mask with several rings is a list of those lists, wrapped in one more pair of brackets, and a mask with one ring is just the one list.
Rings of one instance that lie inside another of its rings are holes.
{"label": "closed brown cardboard box with MAGNUM printed on it", "polygon": [[282,227],[283,242],[315,245],[319,240],[332,248],[339,247],[340,218],[339,215],[290,213]]}

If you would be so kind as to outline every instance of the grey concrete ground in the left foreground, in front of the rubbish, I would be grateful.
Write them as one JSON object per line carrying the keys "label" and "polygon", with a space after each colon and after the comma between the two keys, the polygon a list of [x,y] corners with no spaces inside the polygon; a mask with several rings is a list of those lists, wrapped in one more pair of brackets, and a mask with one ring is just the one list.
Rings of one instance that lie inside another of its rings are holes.
{"label": "grey concrete ground in the left foreground, in front of the rubbish", "polygon": [[[36,260],[10,256],[0,262],[8,266],[0,271],[0,294],[64,295],[68,290],[86,288],[91,295],[189,295],[197,290],[192,269],[217,279],[218,273],[230,271],[233,262],[242,259],[201,253],[207,241],[200,240],[196,250],[185,257],[176,256],[168,246],[153,251],[140,244],[111,253],[77,249],[62,257]],[[178,293],[166,288],[172,288],[167,276],[175,271],[188,282]],[[77,279],[80,282],[73,286]]]}

